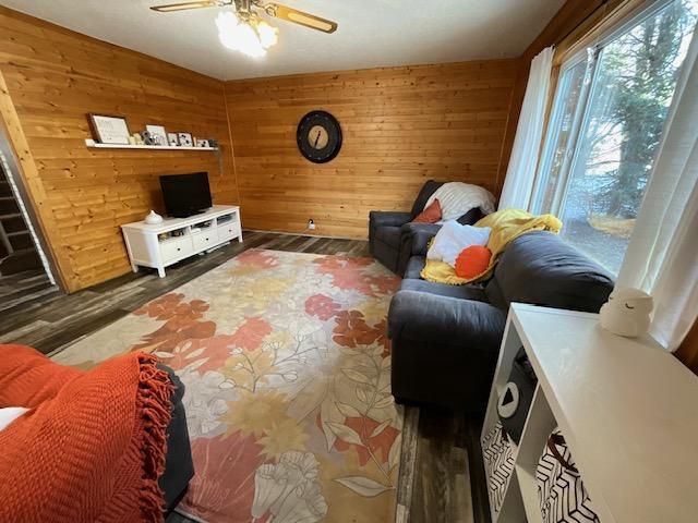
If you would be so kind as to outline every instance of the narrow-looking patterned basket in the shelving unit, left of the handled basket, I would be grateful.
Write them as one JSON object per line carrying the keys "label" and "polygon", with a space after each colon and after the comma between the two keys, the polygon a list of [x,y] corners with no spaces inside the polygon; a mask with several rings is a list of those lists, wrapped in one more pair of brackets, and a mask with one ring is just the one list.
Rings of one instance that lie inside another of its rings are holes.
{"label": "narrow-looking patterned basket in the shelving unit, left of the handled basket", "polygon": [[514,472],[514,451],[500,422],[484,437],[483,447],[490,506],[495,512],[500,512],[506,487]]}

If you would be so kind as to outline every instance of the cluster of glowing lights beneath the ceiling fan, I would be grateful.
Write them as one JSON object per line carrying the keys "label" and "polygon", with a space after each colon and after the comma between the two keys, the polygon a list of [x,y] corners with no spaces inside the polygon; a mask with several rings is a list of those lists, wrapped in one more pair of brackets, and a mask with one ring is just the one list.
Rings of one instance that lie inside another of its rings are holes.
{"label": "cluster of glowing lights beneath the ceiling fan", "polygon": [[277,29],[266,22],[241,22],[234,13],[218,14],[216,26],[218,38],[228,49],[240,51],[249,57],[262,58],[266,50],[277,41]]}

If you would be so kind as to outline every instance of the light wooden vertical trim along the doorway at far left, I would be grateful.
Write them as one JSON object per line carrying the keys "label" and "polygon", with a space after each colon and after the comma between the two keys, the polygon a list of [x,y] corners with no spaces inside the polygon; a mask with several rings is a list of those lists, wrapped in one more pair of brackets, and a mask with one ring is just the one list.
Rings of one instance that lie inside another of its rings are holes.
{"label": "light wooden vertical trim along the doorway at far left", "polygon": [[[43,236],[47,239],[45,243],[49,252],[46,253],[46,255],[52,258],[58,269],[55,276],[58,278],[58,282],[62,289],[69,292],[75,291],[80,288],[77,277],[72,270],[70,259],[68,259],[68,256],[64,254],[64,246],[60,243],[58,245],[55,244],[61,235],[52,220],[50,209],[45,206],[46,192],[44,184],[39,178],[36,162],[34,161],[32,150],[29,149],[22,124],[20,123],[20,117],[10,97],[2,71],[0,71],[0,123],[3,124],[7,131],[10,146],[19,163],[19,175],[22,177],[22,182],[27,188],[28,202],[25,202],[25,205],[31,206],[34,215],[37,217],[36,226],[39,228]],[[52,240],[48,241],[48,239]]]}

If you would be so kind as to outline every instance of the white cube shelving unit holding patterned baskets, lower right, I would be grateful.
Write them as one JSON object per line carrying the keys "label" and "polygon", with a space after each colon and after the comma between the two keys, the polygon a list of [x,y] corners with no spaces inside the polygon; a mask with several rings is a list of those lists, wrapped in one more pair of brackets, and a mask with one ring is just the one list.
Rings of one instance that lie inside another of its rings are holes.
{"label": "white cube shelving unit holding patterned baskets, lower right", "polygon": [[539,523],[535,467],[562,429],[601,523],[698,521],[698,378],[651,338],[603,330],[598,315],[513,304],[482,438],[524,346],[538,386],[494,523]]}

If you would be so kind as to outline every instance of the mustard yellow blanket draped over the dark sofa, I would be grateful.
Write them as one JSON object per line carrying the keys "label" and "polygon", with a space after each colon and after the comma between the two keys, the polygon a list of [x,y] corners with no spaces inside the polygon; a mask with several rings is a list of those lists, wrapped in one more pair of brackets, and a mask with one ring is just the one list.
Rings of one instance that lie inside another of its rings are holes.
{"label": "mustard yellow blanket draped over the dark sofa", "polygon": [[484,272],[470,279],[460,278],[456,275],[456,269],[450,265],[428,258],[426,265],[421,272],[422,278],[436,283],[448,283],[449,285],[465,285],[466,283],[484,280],[490,277],[500,255],[510,241],[532,231],[551,231],[557,234],[563,227],[563,222],[553,215],[533,216],[525,210],[503,209],[485,216],[474,227],[492,228],[490,241],[488,242],[488,248],[492,251],[492,258]]}

